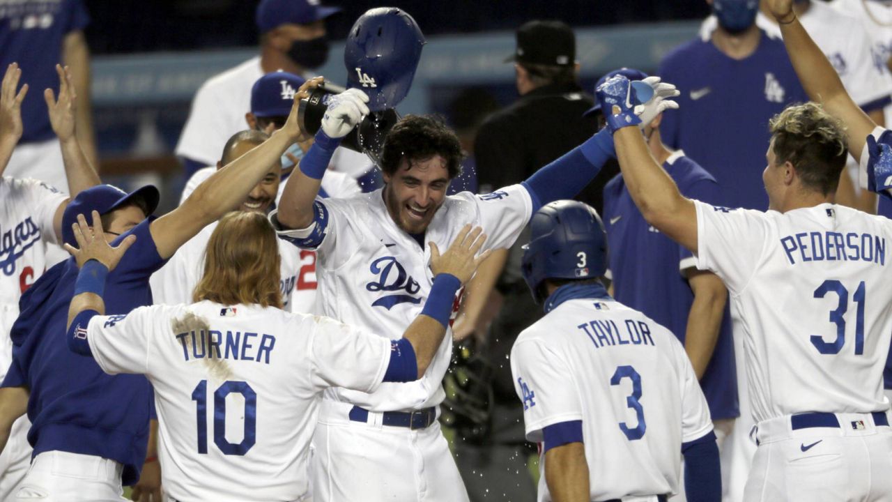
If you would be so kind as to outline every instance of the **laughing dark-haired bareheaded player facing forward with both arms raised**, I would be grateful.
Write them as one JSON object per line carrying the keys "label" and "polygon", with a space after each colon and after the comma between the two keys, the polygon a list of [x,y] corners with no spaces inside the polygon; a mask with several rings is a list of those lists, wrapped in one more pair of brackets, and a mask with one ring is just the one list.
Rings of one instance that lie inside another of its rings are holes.
{"label": "laughing dark-haired bareheaded player facing forward with both arms raised", "polygon": [[[361,54],[376,54],[372,45],[377,40],[398,37],[391,31],[406,26],[398,13],[376,11],[378,17],[360,18],[362,29],[351,29],[382,33],[348,40],[360,48],[369,44]],[[379,81],[387,74],[387,62],[380,59],[356,64],[357,73],[368,79]],[[490,236],[488,248],[508,247],[541,204],[573,197],[610,156],[604,130],[521,184],[485,196],[462,192],[447,197],[446,187],[459,169],[458,138],[439,121],[410,115],[384,140],[383,189],[317,199],[328,158],[369,112],[367,103],[386,106],[389,96],[405,88],[364,90],[351,88],[329,101],[316,142],[289,178],[270,221],[282,238],[317,250],[321,313],[368,329],[400,332],[415,318],[431,288],[427,243],[443,246],[472,223]],[[450,352],[446,339],[418,382],[384,384],[373,393],[326,390],[314,438],[318,498],[467,500],[465,490],[456,489],[461,480],[436,422]],[[407,479],[405,473],[414,475]]]}

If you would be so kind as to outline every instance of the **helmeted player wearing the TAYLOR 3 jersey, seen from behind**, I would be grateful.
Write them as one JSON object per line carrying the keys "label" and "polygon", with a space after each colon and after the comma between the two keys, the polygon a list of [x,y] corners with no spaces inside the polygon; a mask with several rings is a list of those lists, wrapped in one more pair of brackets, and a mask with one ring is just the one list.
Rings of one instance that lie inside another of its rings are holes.
{"label": "helmeted player wearing the TAYLOR 3 jersey, seen from behind", "polygon": [[524,280],[545,317],[521,332],[511,373],[526,438],[541,443],[539,500],[722,498],[713,423],[673,332],[607,294],[607,234],[590,205],[530,222]]}

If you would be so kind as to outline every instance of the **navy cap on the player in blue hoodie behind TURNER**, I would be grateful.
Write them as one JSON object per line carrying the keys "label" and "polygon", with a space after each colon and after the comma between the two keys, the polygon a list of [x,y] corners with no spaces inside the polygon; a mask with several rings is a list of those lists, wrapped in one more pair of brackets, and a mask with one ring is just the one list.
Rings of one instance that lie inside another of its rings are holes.
{"label": "navy cap on the player in blue hoodie behind TURNER", "polygon": [[78,214],[83,214],[87,218],[87,222],[92,223],[90,214],[94,211],[98,211],[99,214],[110,213],[119,207],[128,205],[129,202],[137,198],[143,200],[146,207],[145,215],[149,216],[158,207],[161,194],[158,192],[158,188],[154,188],[152,185],[136,188],[130,193],[112,185],[96,185],[81,191],[78,197],[74,197],[68,203],[68,207],[62,213],[62,242],[77,247],[78,241],[74,238],[74,230],[71,230],[71,225],[78,222]]}

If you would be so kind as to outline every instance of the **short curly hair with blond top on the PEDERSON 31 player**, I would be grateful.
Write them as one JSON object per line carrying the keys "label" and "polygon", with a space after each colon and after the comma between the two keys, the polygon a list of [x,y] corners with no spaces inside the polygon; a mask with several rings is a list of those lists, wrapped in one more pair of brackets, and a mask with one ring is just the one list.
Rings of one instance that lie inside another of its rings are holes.
{"label": "short curly hair with blond top on the PEDERSON 31 player", "polygon": [[846,129],[814,102],[790,105],[768,122],[775,163],[792,163],[806,188],[836,192],[846,166]]}

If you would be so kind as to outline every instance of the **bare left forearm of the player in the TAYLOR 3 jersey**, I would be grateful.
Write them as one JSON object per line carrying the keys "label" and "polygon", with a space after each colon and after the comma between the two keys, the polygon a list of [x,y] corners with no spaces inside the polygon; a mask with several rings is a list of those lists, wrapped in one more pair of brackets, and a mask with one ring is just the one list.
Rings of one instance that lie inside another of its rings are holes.
{"label": "bare left forearm of the player in the TAYLOR 3 jersey", "polygon": [[582,443],[569,443],[545,452],[545,481],[555,502],[589,502],[589,466]]}

